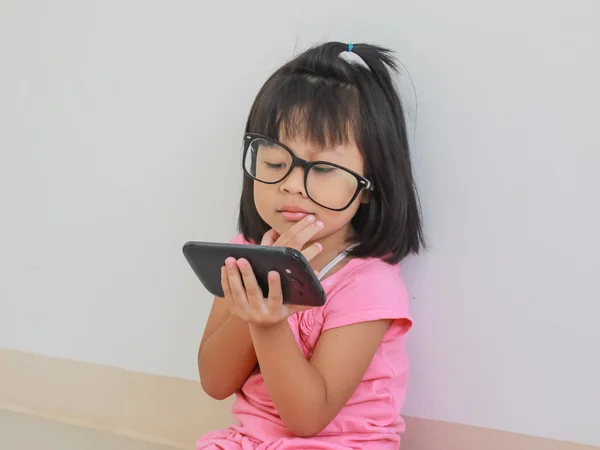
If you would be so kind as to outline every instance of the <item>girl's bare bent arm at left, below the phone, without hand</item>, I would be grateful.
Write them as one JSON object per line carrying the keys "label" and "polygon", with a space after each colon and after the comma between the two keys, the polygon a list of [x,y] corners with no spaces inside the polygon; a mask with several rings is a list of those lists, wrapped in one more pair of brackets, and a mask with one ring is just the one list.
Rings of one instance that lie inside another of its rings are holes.
{"label": "girl's bare bent arm at left, below the phone, without hand", "polygon": [[223,400],[242,387],[255,366],[248,323],[231,315],[224,299],[215,297],[198,350],[202,388]]}

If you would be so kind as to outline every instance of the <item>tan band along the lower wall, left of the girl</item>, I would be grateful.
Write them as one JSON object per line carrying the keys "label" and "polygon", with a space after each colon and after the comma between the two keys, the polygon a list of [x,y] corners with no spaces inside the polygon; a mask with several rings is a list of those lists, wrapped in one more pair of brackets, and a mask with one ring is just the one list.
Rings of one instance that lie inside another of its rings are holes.
{"label": "tan band along the lower wall, left of the girl", "polygon": [[[231,422],[199,382],[0,349],[0,408],[193,448]],[[3,449],[0,449],[3,450]]]}

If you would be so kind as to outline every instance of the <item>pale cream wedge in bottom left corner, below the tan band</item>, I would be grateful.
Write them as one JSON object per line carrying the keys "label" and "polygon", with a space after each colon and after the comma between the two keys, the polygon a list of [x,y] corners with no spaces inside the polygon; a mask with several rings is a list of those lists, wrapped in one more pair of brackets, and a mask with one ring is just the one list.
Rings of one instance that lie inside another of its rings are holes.
{"label": "pale cream wedge in bottom left corner, below the tan band", "polygon": [[0,449],[174,450],[174,447],[0,410]]}

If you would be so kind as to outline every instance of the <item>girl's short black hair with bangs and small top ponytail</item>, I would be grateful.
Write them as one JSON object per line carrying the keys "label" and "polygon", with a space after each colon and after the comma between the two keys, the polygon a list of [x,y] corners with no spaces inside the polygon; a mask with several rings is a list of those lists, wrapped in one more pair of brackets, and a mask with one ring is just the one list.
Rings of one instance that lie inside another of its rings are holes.
{"label": "girl's short black hair with bangs and small top ponytail", "polygon": [[[358,245],[351,255],[397,263],[424,243],[404,108],[392,80],[397,62],[388,49],[354,44],[363,65],[341,57],[348,49],[327,42],[278,69],[256,96],[246,132],[277,140],[303,133],[320,146],[354,137],[375,190],[352,219]],[[260,243],[270,227],[256,210],[253,183],[244,177],[238,228]]]}

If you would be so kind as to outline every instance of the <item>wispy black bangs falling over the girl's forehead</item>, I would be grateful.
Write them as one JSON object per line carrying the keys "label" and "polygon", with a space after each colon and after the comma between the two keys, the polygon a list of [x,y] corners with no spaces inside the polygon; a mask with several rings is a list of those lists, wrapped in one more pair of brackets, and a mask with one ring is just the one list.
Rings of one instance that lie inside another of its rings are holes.
{"label": "wispy black bangs falling over the girl's forehead", "polygon": [[338,80],[288,74],[263,87],[249,117],[248,131],[281,141],[301,138],[319,147],[358,138],[358,90]]}

